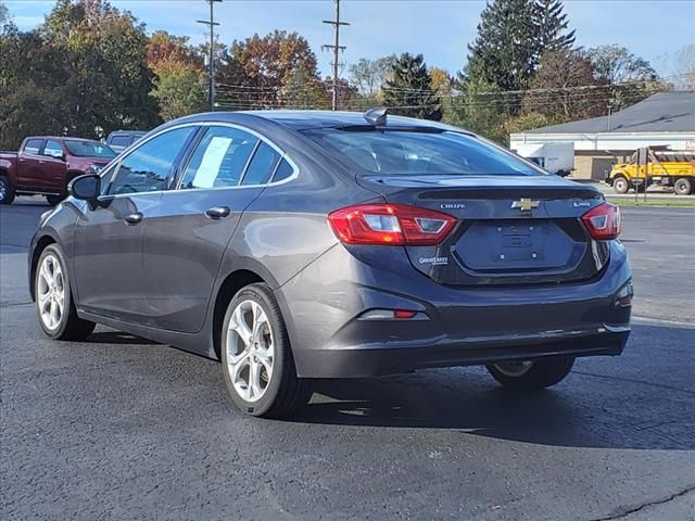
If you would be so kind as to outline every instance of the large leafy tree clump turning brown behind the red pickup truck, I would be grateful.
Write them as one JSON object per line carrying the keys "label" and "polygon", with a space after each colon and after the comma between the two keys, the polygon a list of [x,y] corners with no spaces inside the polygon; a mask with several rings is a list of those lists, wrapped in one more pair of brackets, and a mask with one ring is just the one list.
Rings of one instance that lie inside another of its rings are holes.
{"label": "large leafy tree clump turning brown behind the red pickup truck", "polygon": [[30,134],[101,138],[152,128],[144,27],[103,0],[59,0],[31,31],[0,35],[0,147]]}

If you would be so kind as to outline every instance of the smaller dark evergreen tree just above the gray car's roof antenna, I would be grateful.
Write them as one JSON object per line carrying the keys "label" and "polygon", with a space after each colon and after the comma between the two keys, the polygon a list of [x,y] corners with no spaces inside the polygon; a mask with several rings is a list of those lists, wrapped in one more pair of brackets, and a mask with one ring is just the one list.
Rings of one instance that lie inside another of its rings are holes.
{"label": "smaller dark evergreen tree just above the gray car's roof antenna", "polygon": [[442,105],[432,90],[432,77],[422,54],[401,54],[383,86],[383,104],[391,113],[439,122]]}

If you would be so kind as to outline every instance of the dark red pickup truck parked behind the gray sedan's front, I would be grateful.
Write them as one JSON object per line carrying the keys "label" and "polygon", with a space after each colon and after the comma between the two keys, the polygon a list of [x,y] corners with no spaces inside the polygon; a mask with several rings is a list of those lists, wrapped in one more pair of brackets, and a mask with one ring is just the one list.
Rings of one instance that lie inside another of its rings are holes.
{"label": "dark red pickup truck parked behind the gray sedan's front", "polygon": [[26,138],[18,152],[0,152],[0,204],[11,204],[15,195],[35,194],[58,204],[74,177],[98,173],[115,156],[108,145],[89,139]]}

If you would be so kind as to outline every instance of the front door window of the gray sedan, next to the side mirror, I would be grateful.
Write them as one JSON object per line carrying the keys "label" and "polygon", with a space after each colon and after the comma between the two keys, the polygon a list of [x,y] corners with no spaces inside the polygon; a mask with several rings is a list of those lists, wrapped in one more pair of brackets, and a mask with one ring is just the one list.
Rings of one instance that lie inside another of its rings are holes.
{"label": "front door window of the gray sedan, next to the side mirror", "polygon": [[115,195],[166,189],[172,167],[194,131],[195,127],[176,128],[134,150],[121,162],[103,193]]}

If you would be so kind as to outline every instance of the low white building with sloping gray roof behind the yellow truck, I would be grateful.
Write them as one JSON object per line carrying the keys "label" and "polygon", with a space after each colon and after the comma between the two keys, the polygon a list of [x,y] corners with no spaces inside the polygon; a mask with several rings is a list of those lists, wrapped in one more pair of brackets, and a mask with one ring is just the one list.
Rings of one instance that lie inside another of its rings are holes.
{"label": "low white building with sloping gray roof behind the yellow truck", "polygon": [[609,116],[513,134],[520,144],[573,143],[573,177],[604,179],[614,163],[642,147],[695,150],[695,92],[659,92]]}

